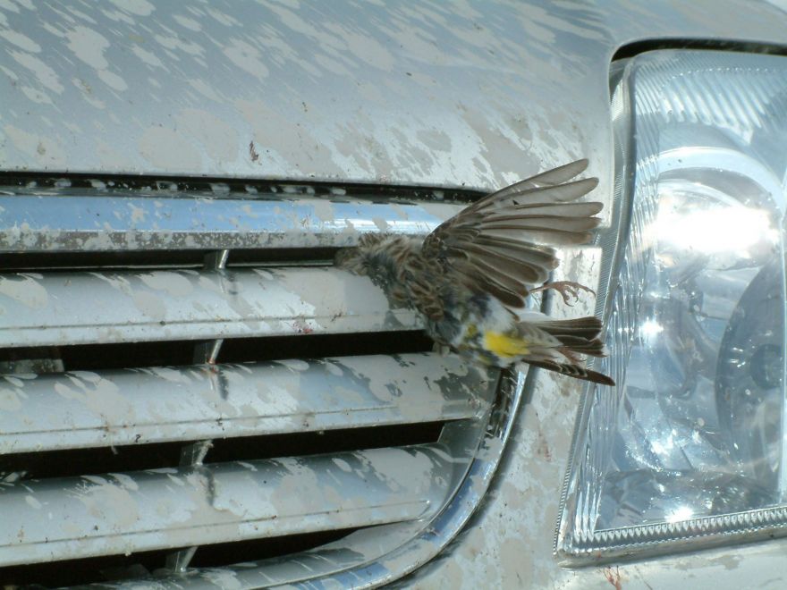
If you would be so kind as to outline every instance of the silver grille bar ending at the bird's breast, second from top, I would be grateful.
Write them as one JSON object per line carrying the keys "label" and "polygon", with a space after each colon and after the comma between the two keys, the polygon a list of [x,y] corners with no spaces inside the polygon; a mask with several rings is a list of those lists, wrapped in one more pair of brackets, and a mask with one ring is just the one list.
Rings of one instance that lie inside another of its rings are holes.
{"label": "silver grille bar ending at the bird's breast, second from top", "polygon": [[0,346],[417,329],[334,267],[0,275]]}

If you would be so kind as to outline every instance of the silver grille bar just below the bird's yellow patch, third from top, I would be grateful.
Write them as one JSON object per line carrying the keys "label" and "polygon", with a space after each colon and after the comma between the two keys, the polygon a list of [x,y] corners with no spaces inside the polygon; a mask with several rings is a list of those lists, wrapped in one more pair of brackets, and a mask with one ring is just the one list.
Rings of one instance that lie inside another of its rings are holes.
{"label": "silver grille bar just below the bird's yellow patch, third from top", "polygon": [[495,376],[434,353],[9,375],[0,454],[478,417]]}

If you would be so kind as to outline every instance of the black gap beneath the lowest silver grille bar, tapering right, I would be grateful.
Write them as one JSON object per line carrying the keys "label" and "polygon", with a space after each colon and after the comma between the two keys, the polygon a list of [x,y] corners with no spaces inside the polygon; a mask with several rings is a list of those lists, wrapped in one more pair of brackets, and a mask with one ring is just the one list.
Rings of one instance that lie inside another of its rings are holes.
{"label": "black gap beneath the lowest silver grille bar, tapering right", "polygon": [[[344,528],[303,535],[288,535],[253,541],[202,545],[190,562],[190,568],[216,568],[235,563],[261,561],[290,553],[309,551],[334,543],[358,528]],[[101,582],[148,580],[165,576],[166,557],[177,549],[137,552],[131,555],[106,555],[81,560],[50,561],[32,565],[0,568],[3,588],[59,588]]]}

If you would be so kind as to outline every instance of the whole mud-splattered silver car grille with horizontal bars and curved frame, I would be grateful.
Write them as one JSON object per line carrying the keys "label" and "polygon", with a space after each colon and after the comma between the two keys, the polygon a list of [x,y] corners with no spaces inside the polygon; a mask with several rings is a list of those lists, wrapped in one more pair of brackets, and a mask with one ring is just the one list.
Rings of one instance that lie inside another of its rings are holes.
{"label": "whole mud-splattered silver car grille with horizontal bars and curved frame", "polygon": [[469,517],[521,378],[432,352],[330,261],[475,194],[6,181],[4,582],[366,586]]}

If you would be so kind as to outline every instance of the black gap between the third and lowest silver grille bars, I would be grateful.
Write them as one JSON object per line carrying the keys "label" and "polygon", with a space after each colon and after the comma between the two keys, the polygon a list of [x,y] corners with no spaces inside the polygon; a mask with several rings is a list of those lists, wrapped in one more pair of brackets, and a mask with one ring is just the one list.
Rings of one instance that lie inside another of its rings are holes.
{"label": "black gap between the third and lowest silver grille bars", "polygon": [[[443,426],[444,422],[425,422],[343,428],[324,433],[266,434],[216,439],[204,462],[250,461],[436,443]],[[0,481],[10,474],[17,474],[21,480],[29,480],[177,468],[181,451],[189,443],[128,444],[0,455]]]}

